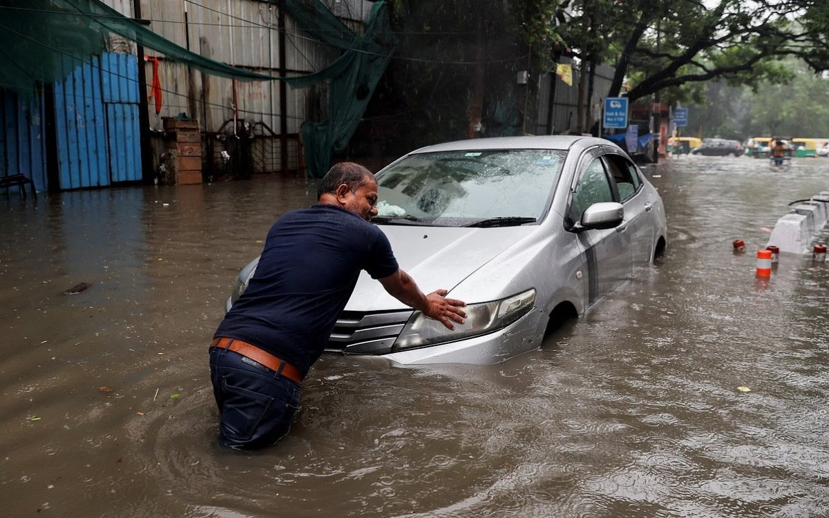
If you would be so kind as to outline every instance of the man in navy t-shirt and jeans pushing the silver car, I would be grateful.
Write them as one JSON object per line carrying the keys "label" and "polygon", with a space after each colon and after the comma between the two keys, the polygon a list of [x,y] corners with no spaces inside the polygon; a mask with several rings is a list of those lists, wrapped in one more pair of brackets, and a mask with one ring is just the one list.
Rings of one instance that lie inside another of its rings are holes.
{"label": "man in navy t-shirt and jeans pushing the silver car", "polygon": [[290,429],[300,384],[322,355],[361,270],[385,291],[450,330],[466,304],[424,295],[397,264],[377,214],[377,182],[342,162],[322,178],[318,204],[289,212],[271,227],[245,293],[225,315],[210,347],[219,407],[218,442],[234,449],[270,446]]}

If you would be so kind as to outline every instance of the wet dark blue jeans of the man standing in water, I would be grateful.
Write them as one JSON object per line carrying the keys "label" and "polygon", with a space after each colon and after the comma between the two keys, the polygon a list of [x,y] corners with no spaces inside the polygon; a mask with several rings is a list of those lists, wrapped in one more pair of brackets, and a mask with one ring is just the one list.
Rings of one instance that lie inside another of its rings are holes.
{"label": "wet dark blue jeans of the man standing in water", "polygon": [[210,348],[210,374],[222,446],[265,448],[288,433],[302,393],[297,383],[219,347]]}

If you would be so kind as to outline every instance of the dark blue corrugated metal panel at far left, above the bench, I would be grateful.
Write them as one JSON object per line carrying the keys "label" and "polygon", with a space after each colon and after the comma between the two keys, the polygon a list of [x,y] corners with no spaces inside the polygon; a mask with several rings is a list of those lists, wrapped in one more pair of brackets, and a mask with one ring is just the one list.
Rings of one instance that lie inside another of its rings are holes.
{"label": "dark blue corrugated metal panel at far left, above the bench", "polygon": [[0,177],[23,174],[46,189],[43,94],[23,99],[0,90]]}

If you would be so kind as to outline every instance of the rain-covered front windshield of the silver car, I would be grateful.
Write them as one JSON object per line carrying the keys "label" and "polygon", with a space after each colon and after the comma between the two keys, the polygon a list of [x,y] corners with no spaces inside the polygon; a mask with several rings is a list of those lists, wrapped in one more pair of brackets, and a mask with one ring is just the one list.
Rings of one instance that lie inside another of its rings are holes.
{"label": "rain-covered front windshield of the silver car", "polygon": [[417,153],[377,175],[378,224],[510,226],[545,214],[565,151]]}

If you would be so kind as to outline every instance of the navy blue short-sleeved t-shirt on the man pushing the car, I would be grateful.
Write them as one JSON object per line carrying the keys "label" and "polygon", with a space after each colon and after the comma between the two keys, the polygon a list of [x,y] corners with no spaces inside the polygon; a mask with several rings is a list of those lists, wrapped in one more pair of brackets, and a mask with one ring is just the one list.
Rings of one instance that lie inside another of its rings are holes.
{"label": "navy blue short-sleeved t-shirt on the man pushing the car", "polygon": [[250,342],[305,374],[322,355],[363,269],[372,278],[398,269],[375,225],[332,205],[289,212],[268,232],[248,288],[215,336]]}

